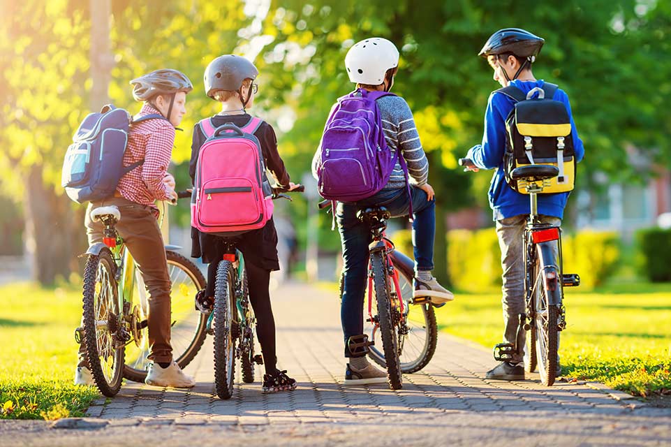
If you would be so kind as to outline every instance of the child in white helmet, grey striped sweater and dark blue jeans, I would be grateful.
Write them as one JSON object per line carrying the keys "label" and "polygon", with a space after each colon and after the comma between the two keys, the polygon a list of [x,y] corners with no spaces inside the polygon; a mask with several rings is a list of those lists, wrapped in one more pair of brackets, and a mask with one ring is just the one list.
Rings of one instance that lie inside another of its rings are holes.
{"label": "child in white helmet, grey striped sweater and dark blue jeans", "polygon": [[[390,91],[398,64],[399,51],[384,38],[360,41],[351,47],[345,57],[349,79],[360,89],[357,90],[359,96],[364,91]],[[389,94],[378,97],[375,101],[381,115],[387,150],[398,154],[397,162],[395,166],[390,166],[392,170],[381,190],[355,203],[340,201],[337,210],[334,210],[341,235],[344,262],[341,323],[345,357],[349,359],[344,380],[346,385],[387,381],[387,374],[369,364],[366,358],[368,341],[363,334],[363,302],[371,231],[366,223],[357,219],[357,210],[361,207],[383,206],[391,212],[392,217],[401,217],[412,212],[415,246],[414,296],[429,297],[434,305],[442,305],[454,299],[452,293],[438,284],[432,276],[436,205],[434,190],[427,183],[429,162],[415,128],[413,113],[401,96]],[[337,103],[333,106],[330,116],[338,105]],[[378,147],[379,150],[382,149]],[[319,171],[325,169],[323,153],[329,156],[327,152],[323,152],[323,145],[320,144],[312,163],[316,178],[319,178]],[[409,185],[407,175],[410,177]]]}

